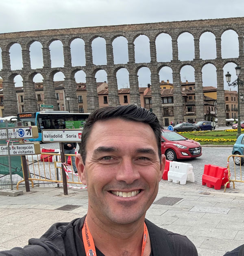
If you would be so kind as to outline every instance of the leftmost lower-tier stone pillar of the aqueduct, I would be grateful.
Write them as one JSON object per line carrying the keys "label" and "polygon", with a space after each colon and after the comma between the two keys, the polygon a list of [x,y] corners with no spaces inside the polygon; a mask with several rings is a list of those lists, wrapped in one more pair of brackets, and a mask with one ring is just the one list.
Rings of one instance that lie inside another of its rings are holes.
{"label": "leftmost lower-tier stone pillar of the aqueduct", "polygon": [[3,79],[3,104],[4,104],[4,116],[16,116],[18,111],[16,91],[13,81]]}

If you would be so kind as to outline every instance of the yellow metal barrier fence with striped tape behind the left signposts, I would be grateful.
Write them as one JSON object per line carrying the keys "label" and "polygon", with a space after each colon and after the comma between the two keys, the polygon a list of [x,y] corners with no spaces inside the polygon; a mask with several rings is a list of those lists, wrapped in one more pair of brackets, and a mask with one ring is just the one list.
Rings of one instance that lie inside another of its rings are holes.
{"label": "yellow metal barrier fence with striped tape behind the left signposts", "polygon": [[[74,154],[65,154],[65,158],[70,156],[76,156]],[[28,166],[28,180],[31,182],[32,187],[34,187],[33,181],[39,182],[50,182],[50,183],[63,183],[63,176],[62,176],[62,163],[61,163],[61,156],[60,153],[49,153],[44,152],[41,155],[29,155],[26,159],[27,166]],[[78,173],[74,173],[72,161],[70,161],[70,165],[67,166],[64,164],[65,173],[67,176],[67,184],[70,187],[70,184],[80,184],[83,185],[80,178],[78,177]],[[20,183],[24,182],[25,180],[22,179],[17,183],[16,188],[19,188]],[[83,187],[77,187],[83,188]]]}

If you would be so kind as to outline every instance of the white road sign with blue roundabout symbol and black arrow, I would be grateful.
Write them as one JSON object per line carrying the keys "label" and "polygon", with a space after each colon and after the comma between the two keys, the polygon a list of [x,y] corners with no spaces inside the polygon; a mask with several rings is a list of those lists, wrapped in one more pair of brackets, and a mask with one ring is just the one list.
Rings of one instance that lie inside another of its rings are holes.
{"label": "white road sign with blue roundabout symbol and black arrow", "polygon": [[[38,138],[37,126],[11,127],[8,130],[9,130],[10,139]],[[6,140],[6,139],[7,139],[7,130],[6,128],[1,128],[0,140]]]}

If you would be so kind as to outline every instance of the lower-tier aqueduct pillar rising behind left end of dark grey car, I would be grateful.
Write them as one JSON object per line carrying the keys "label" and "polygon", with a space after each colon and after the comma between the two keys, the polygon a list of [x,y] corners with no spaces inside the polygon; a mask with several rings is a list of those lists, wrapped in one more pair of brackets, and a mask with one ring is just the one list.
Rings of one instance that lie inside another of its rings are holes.
{"label": "lower-tier aqueduct pillar rising behind left end of dark grey car", "polygon": [[173,70],[173,85],[174,85],[174,123],[177,124],[184,120],[183,111],[185,105],[183,105],[182,93],[181,93],[181,76],[180,72]]}

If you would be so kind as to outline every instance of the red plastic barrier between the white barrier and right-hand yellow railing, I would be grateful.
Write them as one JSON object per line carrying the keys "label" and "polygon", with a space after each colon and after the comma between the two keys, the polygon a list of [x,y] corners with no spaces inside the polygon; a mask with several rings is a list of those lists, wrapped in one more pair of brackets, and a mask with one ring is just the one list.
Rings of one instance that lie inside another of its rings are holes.
{"label": "red plastic barrier between the white barrier and right-hand yellow railing", "polygon": [[224,179],[224,171],[226,168],[212,165],[212,164],[205,164],[204,172],[202,177],[202,184],[206,185],[209,188],[220,189],[228,179]]}

